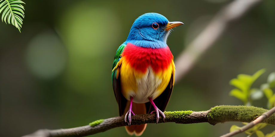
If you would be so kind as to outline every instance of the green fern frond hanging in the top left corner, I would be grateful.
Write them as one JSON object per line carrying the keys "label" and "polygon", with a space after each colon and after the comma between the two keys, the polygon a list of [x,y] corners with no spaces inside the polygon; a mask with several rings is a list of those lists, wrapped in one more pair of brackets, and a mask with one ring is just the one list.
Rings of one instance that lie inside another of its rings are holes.
{"label": "green fern frond hanging in the top left corner", "polygon": [[2,22],[15,26],[19,32],[22,28],[23,19],[25,18],[24,7],[25,4],[21,0],[0,0],[0,14],[2,13]]}

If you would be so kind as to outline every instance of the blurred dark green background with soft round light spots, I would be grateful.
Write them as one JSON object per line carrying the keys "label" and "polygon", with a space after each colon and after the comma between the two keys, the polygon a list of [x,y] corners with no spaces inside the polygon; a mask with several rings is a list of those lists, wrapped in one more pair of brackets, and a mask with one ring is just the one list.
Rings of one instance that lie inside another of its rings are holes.
{"label": "blurred dark green background with soft round light spots", "polygon": [[[182,21],[169,45],[175,59],[230,0],[92,1],[23,0],[22,33],[0,23],[0,136],[16,137],[38,129],[87,125],[118,116],[111,82],[115,52],[143,13]],[[275,1],[265,0],[238,21],[178,82],[167,111],[208,110],[243,105],[229,96],[230,79],[266,68],[252,85],[275,70]],[[183,62],[184,63],[184,62]],[[267,99],[253,102],[267,108]],[[232,124],[148,124],[143,136],[220,136]],[[271,133],[274,126],[262,130]],[[93,136],[129,136],[124,127]],[[247,136],[244,133],[239,136]]]}

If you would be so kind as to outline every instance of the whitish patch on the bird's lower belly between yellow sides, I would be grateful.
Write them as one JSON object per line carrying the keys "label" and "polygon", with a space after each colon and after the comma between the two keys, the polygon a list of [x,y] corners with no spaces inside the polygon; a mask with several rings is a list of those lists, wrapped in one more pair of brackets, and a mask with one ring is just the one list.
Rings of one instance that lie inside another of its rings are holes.
{"label": "whitish patch on the bird's lower belly between yellow sides", "polygon": [[146,71],[146,74],[141,78],[136,78],[137,91],[129,91],[130,96],[133,96],[133,102],[146,103],[149,102],[149,97],[156,99],[160,93],[158,87],[162,79],[156,76],[151,67]]}

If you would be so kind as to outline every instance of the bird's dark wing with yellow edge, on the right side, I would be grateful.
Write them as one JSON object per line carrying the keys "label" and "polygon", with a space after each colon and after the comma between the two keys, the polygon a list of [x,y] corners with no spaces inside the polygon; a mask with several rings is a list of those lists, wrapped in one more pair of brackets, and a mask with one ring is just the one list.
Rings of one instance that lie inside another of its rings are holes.
{"label": "bird's dark wing with yellow edge, on the right side", "polygon": [[[174,81],[175,81],[174,75],[175,75],[175,64],[174,64],[174,61],[172,60],[172,74],[171,74],[170,81],[169,81],[167,87],[165,88],[165,90],[161,93],[161,95],[153,100],[155,105],[162,112],[164,112],[164,110],[166,108],[166,105],[168,104],[168,101],[169,101],[170,96],[172,94],[172,90],[173,90],[173,87],[174,87]],[[154,107],[152,106],[152,104],[150,102],[147,102],[146,103],[146,110],[147,110],[147,113],[150,113],[150,112],[154,111],[155,109],[154,109]]]}

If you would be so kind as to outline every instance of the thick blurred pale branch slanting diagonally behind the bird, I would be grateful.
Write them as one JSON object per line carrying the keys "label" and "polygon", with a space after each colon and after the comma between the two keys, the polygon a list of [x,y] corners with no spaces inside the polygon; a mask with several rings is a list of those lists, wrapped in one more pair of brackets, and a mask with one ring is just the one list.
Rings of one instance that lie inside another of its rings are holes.
{"label": "thick blurred pale branch slanting diagonally behind the bird", "polygon": [[221,37],[222,33],[235,21],[262,0],[235,0],[221,9],[205,29],[189,44],[175,60],[175,83],[194,66],[198,58]]}

